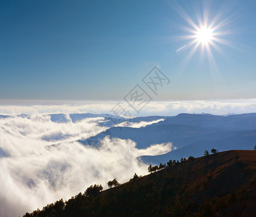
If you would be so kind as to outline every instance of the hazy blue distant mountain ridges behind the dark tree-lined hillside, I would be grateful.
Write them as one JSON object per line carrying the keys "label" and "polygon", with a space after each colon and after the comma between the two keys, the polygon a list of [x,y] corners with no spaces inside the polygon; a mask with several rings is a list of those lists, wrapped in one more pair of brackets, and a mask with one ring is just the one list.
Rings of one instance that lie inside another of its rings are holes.
{"label": "hazy blue distant mountain ridges behind the dark tree-lined hillside", "polygon": [[146,127],[110,127],[106,131],[80,142],[97,145],[104,136],[133,140],[137,148],[153,144],[173,142],[176,150],[161,156],[141,156],[146,163],[167,162],[183,157],[202,156],[205,149],[219,151],[244,149],[252,150],[256,144],[256,114],[216,116],[211,114],[179,114],[177,116],[146,116],[129,122],[162,122]]}

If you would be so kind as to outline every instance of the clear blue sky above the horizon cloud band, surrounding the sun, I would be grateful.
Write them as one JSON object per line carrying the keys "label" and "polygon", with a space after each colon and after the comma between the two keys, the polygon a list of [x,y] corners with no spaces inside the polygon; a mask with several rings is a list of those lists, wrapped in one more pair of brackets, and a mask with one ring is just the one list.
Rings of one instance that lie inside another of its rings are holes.
{"label": "clear blue sky above the horizon cloud band, surrounding the sun", "polygon": [[[154,66],[170,79],[157,100],[255,98],[255,11],[249,0],[0,0],[0,99],[120,100],[146,90]],[[202,44],[188,58],[186,20],[204,14],[221,41],[210,59]]]}

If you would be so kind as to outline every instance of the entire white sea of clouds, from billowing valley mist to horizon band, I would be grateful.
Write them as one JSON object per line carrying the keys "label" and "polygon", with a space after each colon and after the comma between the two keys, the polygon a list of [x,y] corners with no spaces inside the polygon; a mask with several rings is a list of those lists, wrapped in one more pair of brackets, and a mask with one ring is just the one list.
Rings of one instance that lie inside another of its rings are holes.
{"label": "entire white sea of clouds, from billowing valley mist to horizon band", "polygon": [[[110,113],[117,102],[5,101],[0,103],[0,216],[22,216],[84,192],[91,184],[116,178],[127,182],[133,174],[144,175],[148,165],[139,156],[167,153],[171,143],[144,150],[136,142],[104,137],[99,145],[82,145],[107,129],[104,116],[73,122],[69,114]],[[122,103],[125,106],[125,103]],[[128,107],[127,107],[128,108]],[[173,116],[180,113],[242,114],[256,111],[256,99],[229,101],[150,102],[133,116]],[[66,114],[65,122],[52,122],[48,114]],[[29,114],[29,116],[19,115]],[[123,122],[122,127],[145,127],[161,122]]]}

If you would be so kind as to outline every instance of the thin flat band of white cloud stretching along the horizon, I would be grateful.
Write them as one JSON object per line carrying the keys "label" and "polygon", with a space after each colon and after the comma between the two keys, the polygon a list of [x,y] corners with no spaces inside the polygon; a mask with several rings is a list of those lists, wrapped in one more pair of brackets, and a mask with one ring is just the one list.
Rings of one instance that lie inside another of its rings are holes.
{"label": "thin flat band of white cloud stretching along the horizon", "polygon": [[[80,101],[80,102],[43,102],[43,101],[6,101],[0,103],[0,114],[57,114],[86,113],[112,114],[117,101]],[[256,112],[256,99],[209,100],[209,101],[152,101],[139,113],[128,103],[120,105],[130,111],[132,116],[163,115],[173,116],[180,113],[244,114]]]}

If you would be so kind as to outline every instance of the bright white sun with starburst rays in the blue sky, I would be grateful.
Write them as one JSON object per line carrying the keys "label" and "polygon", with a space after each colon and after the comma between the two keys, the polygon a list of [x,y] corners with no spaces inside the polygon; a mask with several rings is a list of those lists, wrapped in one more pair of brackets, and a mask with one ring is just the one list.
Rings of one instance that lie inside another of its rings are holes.
{"label": "bright white sun with starburst rays in the blue sky", "polygon": [[221,45],[234,48],[232,43],[226,40],[226,35],[232,34],[231,30],[227,30],[227,25],[233,16],[228,17],[224,14],[224,10],[220,9],[212,17],[210,10],[204,7],[202,10],[197,10],[196,16],[192,19],[179,5],[176,5],[175,9],[186,21],[186,25],[181,26],[181,29],[186,33],[177,37],[178,41],[184,41],[184,43],[176,50],[178,53],[189,49],[183,66],[186,66],[196,51],[199,51],[202,58],[208,59],[212,71],[218,71],[213,50],[223,55]]}

